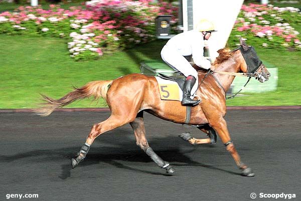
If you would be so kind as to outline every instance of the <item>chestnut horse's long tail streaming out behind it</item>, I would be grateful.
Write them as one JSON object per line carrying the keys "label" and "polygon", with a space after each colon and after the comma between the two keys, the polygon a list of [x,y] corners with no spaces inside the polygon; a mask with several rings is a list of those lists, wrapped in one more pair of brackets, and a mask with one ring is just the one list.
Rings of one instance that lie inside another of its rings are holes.
{"label": "chestnut horse's long tail streaming out behind it", "polygon": [[113,80],[92,81],[81,88],[74,87],[73,91],[57,100],[41,94],[46,103],[42,104],[41,108],[35,109],[34,112],[41,116],[48,116],[54,110],[71,104],[74,100],[90,96],[94,96],[94,100],[102,97],[107,101],[107,92],[112,81]]}

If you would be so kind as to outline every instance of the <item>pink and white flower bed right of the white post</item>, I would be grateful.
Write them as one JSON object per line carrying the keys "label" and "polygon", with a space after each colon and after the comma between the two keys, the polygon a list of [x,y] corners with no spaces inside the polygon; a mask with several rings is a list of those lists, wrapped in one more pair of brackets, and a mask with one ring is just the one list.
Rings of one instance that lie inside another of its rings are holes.
{"label": "pink and white flower bed right of the white post", "polygon": [[243,5],[228,43],[237,37],[264,48],[294,48],[301,50],[299,32],[293,26],[301,23],[299,9],[278,8],[272,5]]}

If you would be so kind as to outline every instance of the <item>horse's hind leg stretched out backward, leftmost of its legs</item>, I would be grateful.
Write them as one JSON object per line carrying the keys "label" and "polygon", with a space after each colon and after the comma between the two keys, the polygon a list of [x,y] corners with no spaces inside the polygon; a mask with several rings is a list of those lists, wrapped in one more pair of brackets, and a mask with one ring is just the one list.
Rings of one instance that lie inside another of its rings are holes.
{"label": "horse's hind leg stretched out backward, leftmost of its legs", "polygon": [[127,118],[126,118],[123,116],[111,115],[107,120],[93,125],[91,132],[86,139],[86,143],[81,147],[77,158],[71,159],[72,160],[72,168],[75,168],[79,164],[79,162],[82,161],[86,157],[95,138],[97,138],[99,135],[101,135],[107,131],[111,131],[111,130],[113,130],[117,127],[123,126],[131,121],[132,121],[132,119],[130,119],[129,116],[127,116]]}

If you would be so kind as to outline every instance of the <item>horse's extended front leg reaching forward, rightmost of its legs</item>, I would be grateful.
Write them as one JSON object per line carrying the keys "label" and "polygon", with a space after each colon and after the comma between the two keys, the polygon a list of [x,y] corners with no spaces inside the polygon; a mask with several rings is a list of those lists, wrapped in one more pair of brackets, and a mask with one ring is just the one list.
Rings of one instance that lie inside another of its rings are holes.
{"label": "horse's extended front leg reaching forward, rightmost of its legs", "polygon": [[209,124],[211,127],[216,130],[221,141],[226,146],[226,149],[232,155],[233,159],[236,162],[236,165],[241,169],[243,176],[254,176],[255,174],[252,172],[251,168],[247,167],[244,163],[241,162],[240,156],[238,155],[233,142],[231,141],[230,134],[227,128],[227,123],[223,117],[219,118],[210,118]]}

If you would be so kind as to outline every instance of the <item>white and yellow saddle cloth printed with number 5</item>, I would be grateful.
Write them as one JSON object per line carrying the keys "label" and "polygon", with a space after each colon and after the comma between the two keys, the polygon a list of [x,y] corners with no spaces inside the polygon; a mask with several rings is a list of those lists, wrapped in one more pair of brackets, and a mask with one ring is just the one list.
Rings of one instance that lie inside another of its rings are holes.
{"label": "white and yellow saddle cloth printed with number 5", "polygon": [[[157,82],[158,82],[160,96],[161,96],[162,100],[182,101],[183,91],[176,81],[163,79],[158,76],[155,76],[155,78],[157,79]],[[194,98],[194,96],[192,95],[191,98]]]}

